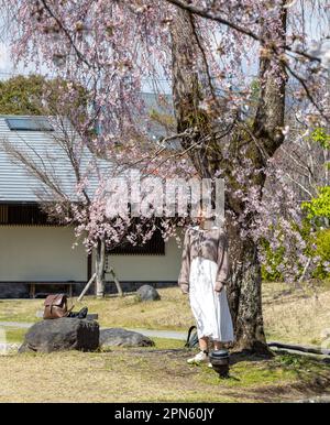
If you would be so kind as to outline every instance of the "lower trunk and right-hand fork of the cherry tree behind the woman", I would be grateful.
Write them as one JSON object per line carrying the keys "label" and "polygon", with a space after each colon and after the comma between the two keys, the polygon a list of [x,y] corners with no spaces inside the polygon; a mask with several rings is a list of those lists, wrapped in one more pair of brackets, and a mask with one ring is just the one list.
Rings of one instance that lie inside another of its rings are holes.
{"label": "lower trunk and right-hand fork of the cherry tree behind the woman", "polygon": [[[285,0],[282,4],[285,6]],[[286,9],[278,8],[277,15],[273,15],[274,28],[264,23],[263,36],[271,43],[274,37],[277,43],[285,44],[286,41]],[[273,32],[272,32],[273,31]],[[267,45],[265,50],[270,48]],[[253,161],[254,170],[266,165],[266,160],[272,157],[284,140],[284,112],[285,89],[287,76],[279,55],[272,56],[270,52],[263,52],[260,58],[260,84],[261,92],[258,107],[254,123],[252,126],[253,137],[248,145],[246,155]],[[244,135],[246,139],[246,134]],[[255,141],[257,140],[257,145]],[[248,134],[249,140],[249,134]],[[265,183],[264,173],[255,177],[250,176],[253,184],[262,188]],[[228,205],[230,209],[239,215],[244,205],[238,205],[232,198],[235,187],[228,187]],[[246,187],[242,187],[243,190]],[[249,222],[253,217],[245,219],[244,230],[249,229]],[[229,237],[231,241],[232,279],[229,287],[229,298],[234,318],[237,335],[237,348],[256,352],[270,352],[266,346],[262,314],[262,275],[261,264],[257,258],[257,244],[251,239],[241,240],[238,226],[229,225]]]}

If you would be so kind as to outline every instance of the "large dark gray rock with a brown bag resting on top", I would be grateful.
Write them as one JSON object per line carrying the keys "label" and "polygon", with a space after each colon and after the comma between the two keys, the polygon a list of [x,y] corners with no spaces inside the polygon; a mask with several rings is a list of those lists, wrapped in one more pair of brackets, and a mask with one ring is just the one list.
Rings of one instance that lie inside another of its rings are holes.
{"label": "large dark gray rock with a brown bag resting on top", "polygon": [[99,324],[95,320],[63,317],[33,325],[19,352],[94,351],[99,347]]}

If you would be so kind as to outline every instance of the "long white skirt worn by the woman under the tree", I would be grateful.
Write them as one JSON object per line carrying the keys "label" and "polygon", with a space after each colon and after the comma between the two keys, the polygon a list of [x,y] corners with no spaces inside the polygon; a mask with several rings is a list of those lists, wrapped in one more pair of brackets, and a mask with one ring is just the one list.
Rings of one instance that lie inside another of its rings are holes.
{"label": "long white skirt worn by the woman under the tree", "polygon": [[234,340],[232,318],[229,310],[226,287],[215,292],[218,265],[200,257],[190,264],[189,301],[196,319],[198,337],[213,341]]}

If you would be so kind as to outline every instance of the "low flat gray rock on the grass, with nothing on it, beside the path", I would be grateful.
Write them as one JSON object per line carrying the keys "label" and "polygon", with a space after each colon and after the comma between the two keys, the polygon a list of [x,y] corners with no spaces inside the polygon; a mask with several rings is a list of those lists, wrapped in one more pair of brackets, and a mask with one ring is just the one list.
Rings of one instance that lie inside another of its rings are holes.
{"label": "low flat gray rock on the grass, with nothing on it, beside the path", "polygon": [[154,341],[148,337],[122,328],[110,328],[100,330],[100,346],[111,347],[152,347]]}

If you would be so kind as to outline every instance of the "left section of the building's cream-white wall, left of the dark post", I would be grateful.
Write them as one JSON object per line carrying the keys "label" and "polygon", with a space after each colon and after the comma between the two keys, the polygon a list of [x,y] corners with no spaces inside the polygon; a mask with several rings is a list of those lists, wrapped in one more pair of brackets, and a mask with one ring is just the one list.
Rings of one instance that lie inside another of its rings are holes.
{"label": "left section of the building's cream-white wall, left of the dark post", "polygon": [[86,281],[87,255],[70,228],[0,226],[0,282]]}

